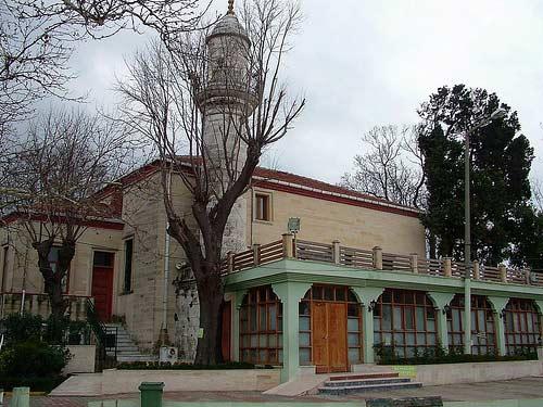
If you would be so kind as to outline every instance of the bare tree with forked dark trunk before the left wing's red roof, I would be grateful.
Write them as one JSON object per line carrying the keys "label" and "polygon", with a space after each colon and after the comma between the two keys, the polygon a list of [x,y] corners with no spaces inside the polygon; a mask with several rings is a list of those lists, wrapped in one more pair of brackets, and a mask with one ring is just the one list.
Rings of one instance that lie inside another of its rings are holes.
{"label": "bare tree with forked dark trunk before the left wing's red roof", "polygon": [[[30,124],[13,152],[4,189],[11,202],[11,232],[24,233],[38,254],[52,315],[64,315],[62,281],[88,226],[113,216],[111,205],[94,194],[123,169],[125,133],[116,124],[83,112],[51,112]],[[59,247],[56,268],[49,262]]]}

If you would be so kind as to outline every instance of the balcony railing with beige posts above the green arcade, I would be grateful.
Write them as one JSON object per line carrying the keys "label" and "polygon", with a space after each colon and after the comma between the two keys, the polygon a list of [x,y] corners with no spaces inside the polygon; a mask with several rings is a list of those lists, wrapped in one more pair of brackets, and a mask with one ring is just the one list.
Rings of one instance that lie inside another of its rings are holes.
{"label": "balcony railing with beige posts above the green arcade", "polygon": [[[296,240],[292,234],[283,234],[281,240],[260,245],[241,253],[229,253],[222,266],[227,274],[242,271],[281,258],[331,263],[366,270],[412,272],[428,276],[464,278],[466,265],[452,258],[419,258],[417,254],[404,255],[372,250],[342,246],[339,241],[317,243]],[[473,280],[501,283],[543,287],[543,275],[529,269],[488,266],[473,260],[469,277]]]}

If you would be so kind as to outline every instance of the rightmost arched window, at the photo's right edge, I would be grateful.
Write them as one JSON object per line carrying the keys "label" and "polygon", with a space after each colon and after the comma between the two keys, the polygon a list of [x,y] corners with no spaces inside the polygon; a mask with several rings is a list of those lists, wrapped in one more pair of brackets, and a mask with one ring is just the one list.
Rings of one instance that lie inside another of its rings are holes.
{"label": "rightmost arched window, at the photo's right edge", "polygon": [[540,338],[540,323],[533,301],[510,298],[504,317],[507,354],[534,353]]}

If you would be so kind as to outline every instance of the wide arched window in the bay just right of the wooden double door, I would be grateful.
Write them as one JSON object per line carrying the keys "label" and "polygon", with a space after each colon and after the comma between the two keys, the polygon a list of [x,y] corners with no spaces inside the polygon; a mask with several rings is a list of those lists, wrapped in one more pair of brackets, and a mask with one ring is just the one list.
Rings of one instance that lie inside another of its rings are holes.
{"label": "wide arched window in the bay just right of the wooden double door", "polygon": [[374,343],[393,345],[401,358],[435,346],[435,309],[428,295],[421,291],[384,290],[374,308]]}

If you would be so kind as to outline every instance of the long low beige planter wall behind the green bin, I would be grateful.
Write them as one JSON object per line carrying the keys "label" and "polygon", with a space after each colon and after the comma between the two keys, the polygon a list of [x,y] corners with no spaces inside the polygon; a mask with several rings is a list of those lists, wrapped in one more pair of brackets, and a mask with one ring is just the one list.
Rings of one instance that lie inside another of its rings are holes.
{"label": "long low beige planter wall behind the green bin", "polygon": [[264,392],[280,383],[280,369],[104,370],[102,394],[137,393],[142,382],[164,382],[164,392]]}

